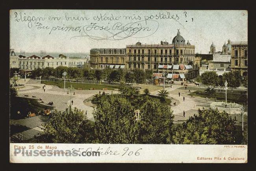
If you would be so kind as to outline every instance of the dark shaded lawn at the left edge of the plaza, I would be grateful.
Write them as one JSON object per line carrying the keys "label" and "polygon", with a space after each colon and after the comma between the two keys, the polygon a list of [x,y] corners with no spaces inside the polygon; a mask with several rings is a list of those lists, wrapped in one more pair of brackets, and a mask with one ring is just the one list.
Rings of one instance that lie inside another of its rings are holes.
{"label": "dark shaded lawn at the left edge of the plaza", "polygon": [[[45,106],[37,101],[37,99],[30,99],[24,97],[13,97],[10,105],[10,118],[22,119],[27,116],[28,112],[37,113],[39,110],[53,109],[53,107]],[[20,111],[20,115],[17,112]]]}

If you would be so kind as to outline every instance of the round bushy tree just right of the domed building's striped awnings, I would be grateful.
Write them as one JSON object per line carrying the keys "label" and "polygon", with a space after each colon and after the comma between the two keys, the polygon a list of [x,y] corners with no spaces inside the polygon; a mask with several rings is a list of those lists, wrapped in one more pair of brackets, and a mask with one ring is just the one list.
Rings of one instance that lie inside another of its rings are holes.
{"label": "round bushy tree just right of the domed building's striped awnings", "polygon": [[217,86],[219,83],[219,77],[215,71],[206,71],[201,77],[204,85]]}

